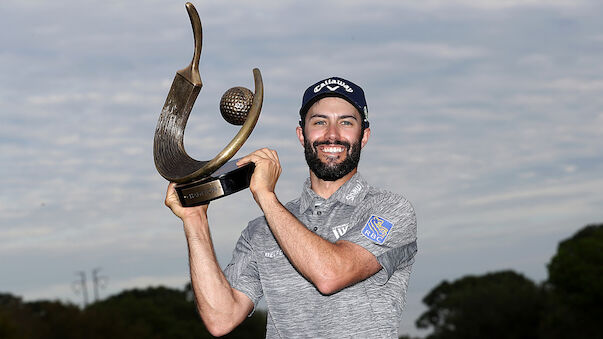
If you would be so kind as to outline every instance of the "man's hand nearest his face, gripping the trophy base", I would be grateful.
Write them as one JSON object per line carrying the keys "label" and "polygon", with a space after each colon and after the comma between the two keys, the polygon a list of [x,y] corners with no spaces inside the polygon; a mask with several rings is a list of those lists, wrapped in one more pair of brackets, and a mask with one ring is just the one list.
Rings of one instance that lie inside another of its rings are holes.
{"label": "man's hand nearest his face, gripping the trophy base", "polygon": [[254,199],[260,203],[259,199],[265,194],[274,193],[276,182],[281,175],[281,163],[275,150],[268,148],[259,149],[237,161],[237,166],[245,165],[249,162],[255,164],[255,170],[251,176],[249,189]]}

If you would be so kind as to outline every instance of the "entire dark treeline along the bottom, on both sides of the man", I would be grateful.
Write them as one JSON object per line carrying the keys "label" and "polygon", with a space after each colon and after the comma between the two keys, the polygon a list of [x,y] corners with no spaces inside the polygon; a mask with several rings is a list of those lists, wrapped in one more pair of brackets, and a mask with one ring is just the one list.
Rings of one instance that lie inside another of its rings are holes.
{"label": "entire dark treeline along the bottom, on both sides of the man", "polygon": [[[547,269],[542,283],[514,271],[443,281],[424,297],[428,309],[416,324],[431,331],[425,339],[603,339],[603,224],[559,243]],[[263,338],[265,326],[266,313],[256,310],[225,338]],[[190,285],[124,291],[85,309],[0,293],[3,339],[211,337]]]}

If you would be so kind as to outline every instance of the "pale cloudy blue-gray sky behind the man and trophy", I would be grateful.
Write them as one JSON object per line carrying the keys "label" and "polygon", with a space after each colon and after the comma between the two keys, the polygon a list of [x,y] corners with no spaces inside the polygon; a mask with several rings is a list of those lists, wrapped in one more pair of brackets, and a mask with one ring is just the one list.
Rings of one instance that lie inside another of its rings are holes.
{"label": "pale cloudy blue-gray sky behind the man and trophy", "polygon": [[[359,171],[415,207],[419,252],[400,333],[443,280],[512,269],[535,282],[557,244],[603,221],[603,4],[596,0],[193,1],[204,81],[185,147],[209,160],[238,128],[230,87],[264,104],[237,154],[275,149],[282,202],[308,176],[301,95],[341,76],[364,88],[372,134]],[[0,292],[80,304],[188,281],[181,222],[153,136],[192,58],[184,2],[0,3]],[[218,260],[261,215],[249,191],[212,202]]]}

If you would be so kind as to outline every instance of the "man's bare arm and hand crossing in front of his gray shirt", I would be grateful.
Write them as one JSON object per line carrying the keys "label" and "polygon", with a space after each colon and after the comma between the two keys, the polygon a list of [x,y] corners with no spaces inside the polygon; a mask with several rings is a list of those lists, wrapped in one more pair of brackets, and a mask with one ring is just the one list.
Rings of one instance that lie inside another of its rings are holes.
{"label": "man's bare arm and hand crossing in front of his gray shirt", "polygon": [[293,266],[323,294],[332,294],[375,274],[377,258],[348,241],[331,243],[308,230],[278,200],[274,193],[281,173],[275,151],[262,149],[239,161],[255,163],[249,186],[264,212],[279,246]]}

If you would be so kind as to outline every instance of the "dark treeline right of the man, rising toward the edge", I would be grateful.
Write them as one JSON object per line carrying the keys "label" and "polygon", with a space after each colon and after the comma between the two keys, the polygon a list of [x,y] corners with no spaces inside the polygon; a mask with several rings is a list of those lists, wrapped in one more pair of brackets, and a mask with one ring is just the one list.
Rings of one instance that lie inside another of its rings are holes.
{"label": "dark treeline right of the man, rising toward the edge", "polygon": [[426,339],[603,339],[603,224],[559,243],[536,284],[513,271],[443,281],[416,321]]}

